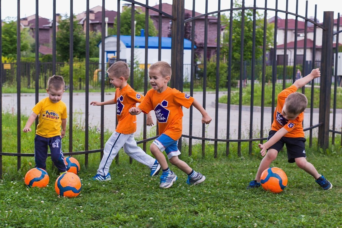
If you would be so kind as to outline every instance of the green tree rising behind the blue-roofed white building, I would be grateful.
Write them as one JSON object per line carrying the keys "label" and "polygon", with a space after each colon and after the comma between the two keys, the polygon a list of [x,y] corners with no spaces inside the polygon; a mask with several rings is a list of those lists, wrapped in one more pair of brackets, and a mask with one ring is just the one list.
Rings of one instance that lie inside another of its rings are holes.
{"label": "green tree rising behind the blue-roofed white building", "polygon": [[[120,13],[120,34],[121,35],[131,35],[131,7],[126,7],[122,13]],[[141,35],[141,29],[145,29],[145,13],[140,9],[135,10],[134,20],[136,20],[135,25],[135,35]],[[134,29],[134,28],[133,28]],[[116,35],[117,31],[117,17],[115,18],[113,29],[108,28],[108,35]],[[157,36],[157,29],[154,27],[153,20],[148,18],[148,35]]]}

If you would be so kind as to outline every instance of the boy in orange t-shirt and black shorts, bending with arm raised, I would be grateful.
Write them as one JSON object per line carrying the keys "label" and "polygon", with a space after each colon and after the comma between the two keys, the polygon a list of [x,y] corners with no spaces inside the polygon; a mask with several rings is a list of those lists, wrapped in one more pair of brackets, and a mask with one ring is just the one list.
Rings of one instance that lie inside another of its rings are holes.
{"label": "boy in orange t-shirt and black shorts, bending with arm raised", "polygon": [[261,173],[276,159],[281,148],[286,144],[289,163],[296,163],[297,166],[311,174],[316,182],[324,189],[329,190],[332,184],[319,174],[316,168],[306,161],[305,138],[303,131],[304,110],[307,106],[307,99],[304,94],[296,92],[314,78],[320,76],[319,69],[314,69],[307,76],[298,79],[287,89],[278,94],[277,107],[274,111],[274,120],[267,142],[259,144],[262,159],[255,179],[252,180],[247,189],[260,187]]}

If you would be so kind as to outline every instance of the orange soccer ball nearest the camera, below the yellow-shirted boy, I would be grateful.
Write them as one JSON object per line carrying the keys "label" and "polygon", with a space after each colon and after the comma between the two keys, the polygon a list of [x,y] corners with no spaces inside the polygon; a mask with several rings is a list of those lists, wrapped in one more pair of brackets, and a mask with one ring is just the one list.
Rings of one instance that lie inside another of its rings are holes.
{"label": "orange soccer ball nearest the camera, below the yellow-shirted boy", "polygon": [[58,195],[76,197],[80,194],[82,183],[80,178],[72,172],[63,173],[55,182],[55,190]]}

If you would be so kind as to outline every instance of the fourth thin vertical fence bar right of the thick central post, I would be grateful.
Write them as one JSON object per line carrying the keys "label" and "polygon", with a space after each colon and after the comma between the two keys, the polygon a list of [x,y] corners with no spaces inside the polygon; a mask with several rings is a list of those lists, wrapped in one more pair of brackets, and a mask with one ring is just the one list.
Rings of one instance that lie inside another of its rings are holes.
{"label": "fourth thin vertical fence bar right of the thick central post", "polygon": [[[233,0],[231,0],[231,9],[233,9]],[[230,138],[231,124],[231,86],[232,86],[232,52],[233,52],[233,11],[229,15],[229,47],[228,47],[228,85],[227,85],[227,136]],[[229,155],[229,141],[226,143],[226,156]]]}

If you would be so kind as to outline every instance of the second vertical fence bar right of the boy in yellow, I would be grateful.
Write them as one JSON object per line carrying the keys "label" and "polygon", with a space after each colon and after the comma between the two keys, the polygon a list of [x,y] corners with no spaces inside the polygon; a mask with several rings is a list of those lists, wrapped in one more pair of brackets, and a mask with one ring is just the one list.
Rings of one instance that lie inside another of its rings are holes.
{"label": "second vertical fence bar right of the boy in yellow", "polygon": [[[89,150],[89,0],[86,1],[86,120],[85,120],[85,137],[84,137],[84,150]],[[88,166],[88,154],[84,154],[84,165]]]}

